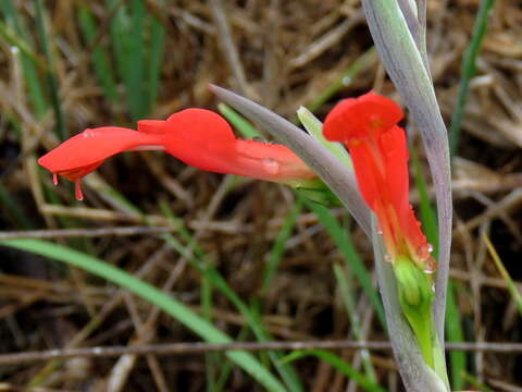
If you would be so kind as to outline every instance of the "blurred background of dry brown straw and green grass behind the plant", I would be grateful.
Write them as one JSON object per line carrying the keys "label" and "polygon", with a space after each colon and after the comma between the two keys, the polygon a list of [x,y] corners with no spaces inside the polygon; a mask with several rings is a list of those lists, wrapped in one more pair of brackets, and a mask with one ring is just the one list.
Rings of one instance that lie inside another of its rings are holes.
{"label": "blurred background of dry brown straw and green grass behind the plant", "polygon": [[[470,91],[453,157],[447,339],[514,344],[522,331],[522,4],[494,4],[471,73],[462,63],[480,5],[427,1],[432,75],[448,125],[468,76]],[[291,121],[300,106],[324,119],[339,99],[369,89],[400,100],[359,1],[2,0],[0,14],[0,240],[40,230],[32,235],[164,290],[235,341],[387,340],[372,306],[371,244],[344,209],[160,152],[110,159],[85,179],[85,200],[76,201],[70,183],[54,187],[36,164],[86,127],[217,110],[209,83]],[[409,139],[411,196],[436,243],[431,180],[412,126]],[[72,229],[80,230],[54,232]],[[0,354],[201,341],[91,273],[33,253],[0,254]],[[291,373],[290,390],[401,390],[389,351],[332,353],[371,384],[318,353],[283,370],[274,364],[288,352],[254,355],[274,377]],[[522,390],[514,351],[449,351],[448,366],[455,390]],[[0,390],[23,391],[263,390],[222,353],[12,363],[0,365]]]}

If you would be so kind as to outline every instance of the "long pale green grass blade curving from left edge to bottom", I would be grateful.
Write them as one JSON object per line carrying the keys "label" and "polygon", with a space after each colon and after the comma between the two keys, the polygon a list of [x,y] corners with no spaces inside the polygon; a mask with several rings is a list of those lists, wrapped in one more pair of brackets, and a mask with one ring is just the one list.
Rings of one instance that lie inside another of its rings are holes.
{"label": "long pale green grass blade curving from left edge to bottom", "polygon": [[[142,299],[149,301],[207,342],[232,342],[232,339],[228,335],[196,315],[177,299],[100,259],[64,246],[39,240],[2,241],[0,242],[0,245],[29,252],[82,268],[95,275],[107,279],[112,283],[129,290]],[[266,368],[261,366],[251,354],[240,351],[229,351],[226,352],[226,356],[238,367],[243,368],[246,372],[258,380],[258,382],[269,391],[285,391],[285,388],[281,382],[275,379]]]}

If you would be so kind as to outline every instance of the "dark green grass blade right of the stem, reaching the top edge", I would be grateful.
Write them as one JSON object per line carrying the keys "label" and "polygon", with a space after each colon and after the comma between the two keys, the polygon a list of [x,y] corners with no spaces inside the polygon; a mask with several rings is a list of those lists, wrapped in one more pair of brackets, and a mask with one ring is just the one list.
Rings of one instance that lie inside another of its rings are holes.
{"label": "dark green grass blade right of the stem, reaching the top edge", "polygon": [[464,115],[465,101],[470,93],[470,81],[476,72],[475,62],[487,30],[487,19],[495,4],[495,0],[482,0],[478,12],[476,13],[475,25],[470,45],[465,50],[460,71],[459,95],[453,112],[451,113],[451,125],[449,127],[449,151],[455,157],[459,148],[460,128]]}

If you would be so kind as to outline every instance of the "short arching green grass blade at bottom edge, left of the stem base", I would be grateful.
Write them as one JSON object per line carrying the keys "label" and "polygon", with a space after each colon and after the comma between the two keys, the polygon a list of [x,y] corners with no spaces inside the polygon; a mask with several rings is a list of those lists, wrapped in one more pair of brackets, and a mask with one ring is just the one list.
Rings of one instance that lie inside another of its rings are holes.
{"label": "short arching green grass blade at bottom edge, left of the stem base", "polygon": [[341,357],[335,355],[328,351],[324,350],[303,350],[303,351],[296,351],[285,358],[284,362],[293,362],[300,358],[304,358],[308,356],[314,356],[319,359],[326,360],[331,364],[335,369],[343,372],[348,379],[356,381],[363,390],[369,392],[386,392],[386,390],[375,382],[370,380],[369,378],[361,375],[359,371],[353,369],[350,365],[348,365]]}

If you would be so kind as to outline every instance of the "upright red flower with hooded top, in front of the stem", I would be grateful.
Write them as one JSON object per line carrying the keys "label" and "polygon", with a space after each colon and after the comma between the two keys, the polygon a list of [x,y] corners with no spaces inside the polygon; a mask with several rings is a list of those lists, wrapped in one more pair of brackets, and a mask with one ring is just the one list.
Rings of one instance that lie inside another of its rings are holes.
{"label": "upright red flower with hooded top, in front of the stem", "polygon": [[408,148],[403,113],[393,100],[374,93],[339,102],[326,117],[323,132],[350,151],[361,194],[375,212],[391,260],[408,256],[434,270],[431,245],[409,204]]}

